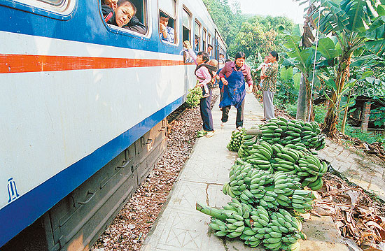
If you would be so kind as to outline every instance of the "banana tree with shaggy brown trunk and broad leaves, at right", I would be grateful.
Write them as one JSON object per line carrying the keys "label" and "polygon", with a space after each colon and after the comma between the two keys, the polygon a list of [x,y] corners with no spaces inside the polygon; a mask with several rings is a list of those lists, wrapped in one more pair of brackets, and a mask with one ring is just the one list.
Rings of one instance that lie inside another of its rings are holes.
{"label": "banana tree with shaggy brown trunk and broad leaves, at right", "polygon": [[349,83],[346,80],[349,78],[349,66],[353,53],[360,48],[366,48],[377,55],[384,53],[385,0],[309,1],[317,6],[311,15],[314,23],[318,23],[319,16],[319,31],[325,35],[334,36],[340,48],[340,53],[336,57],[335,74],[333,74],[335,77],[328,80],[328,84],[333,85],[335,92],[330,96],[328,113],[322,127],[325,133],[333,134],[338,121],[339,99],[346,89],[345,83]]}

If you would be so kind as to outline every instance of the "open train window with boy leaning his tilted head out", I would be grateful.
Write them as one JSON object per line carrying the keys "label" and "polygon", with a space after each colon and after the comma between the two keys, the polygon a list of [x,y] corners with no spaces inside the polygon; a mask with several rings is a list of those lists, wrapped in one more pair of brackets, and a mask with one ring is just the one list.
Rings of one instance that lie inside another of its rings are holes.
{"label": "open train window with boy leaning his tilted head out", "polygon": [[102,0],[104,21],[112,27],[146,34],[146,0]]}

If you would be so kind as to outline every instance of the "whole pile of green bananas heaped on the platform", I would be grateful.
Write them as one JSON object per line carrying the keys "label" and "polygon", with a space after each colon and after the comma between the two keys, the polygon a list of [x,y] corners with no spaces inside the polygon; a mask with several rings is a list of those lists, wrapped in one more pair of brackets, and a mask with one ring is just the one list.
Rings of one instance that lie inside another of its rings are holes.
{"label": "whole pile of green bananas heaped on the platform", "polygon": [[239,158],[223,185],[232,202],[223,209],[197,204],[197,210],[212,216],[209,226],[216,236],[238,237],[253,248],[297,251],[297,241],[307,237],[295,215],[311,210],[315,199],[304,187],[321,189],[328,169],[314,151],[325,147],[325,136],[316,122],[283,117],[260,130],[257,136],[232,132],[228,149],[237,150]]}

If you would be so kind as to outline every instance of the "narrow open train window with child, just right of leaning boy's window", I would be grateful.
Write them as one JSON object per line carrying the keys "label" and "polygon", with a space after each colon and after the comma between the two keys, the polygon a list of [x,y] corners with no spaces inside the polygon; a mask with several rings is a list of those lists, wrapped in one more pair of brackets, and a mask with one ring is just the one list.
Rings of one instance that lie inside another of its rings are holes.
{"label": "narrow open train window with child, just right of leaning boy's window", "polygon": [[175,0],[158,0],[159,36],[162,42],[176,43],[176,2]]}

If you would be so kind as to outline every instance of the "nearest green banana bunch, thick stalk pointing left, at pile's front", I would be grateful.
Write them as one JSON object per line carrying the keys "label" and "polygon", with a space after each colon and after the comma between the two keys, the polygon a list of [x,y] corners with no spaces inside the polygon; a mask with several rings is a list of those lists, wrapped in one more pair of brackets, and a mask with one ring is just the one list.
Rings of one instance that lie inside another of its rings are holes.
{"label": "nearest green banana bunch, thick stalk pointing left, at pile's front", "polygon": [[270,212],[262,206],[253,208],[232,199],[221,209],[196,204],[197,210],[211,216],[209,227],[216,236],[239,237],[255,248],[263,244],[267,250],[299,250],[297,240],[306,239],[300,220],[284,209]]}

